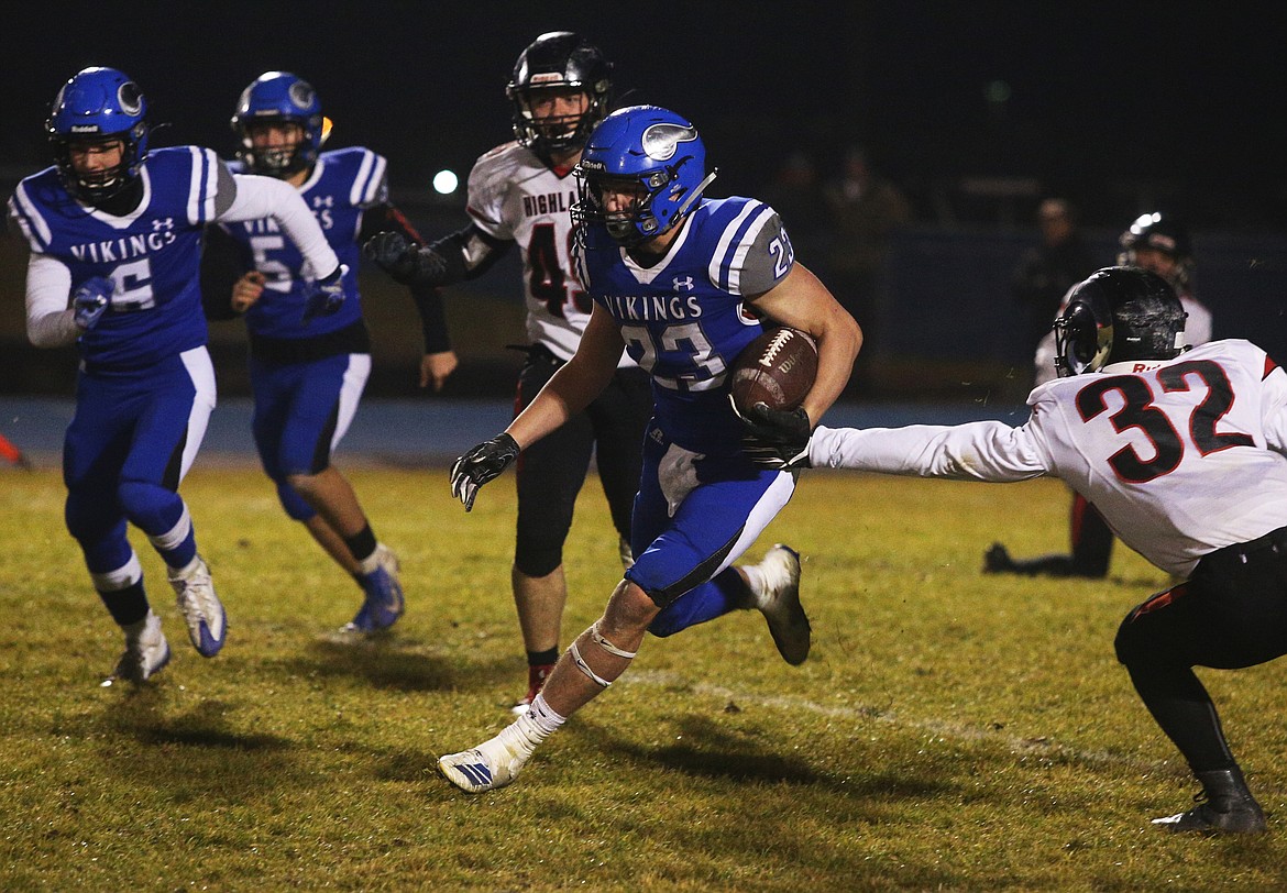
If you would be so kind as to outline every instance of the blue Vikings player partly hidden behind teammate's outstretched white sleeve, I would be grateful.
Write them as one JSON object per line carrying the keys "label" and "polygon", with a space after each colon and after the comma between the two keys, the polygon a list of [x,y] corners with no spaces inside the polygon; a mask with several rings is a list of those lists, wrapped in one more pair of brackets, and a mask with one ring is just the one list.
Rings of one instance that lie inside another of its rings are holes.
{"label": "blue Vikings player partly hidden behind teammate's outstretched white sleeve", "polygon": [[[376,539],[332,454],[371,374],[371,336],[358,296],[359,246],[386,229],[414,242],[420,237],[389,202],[385,158],[362,147],[320,151],[329,121],[308,81],[284,71],[260,75],[242,91],[232,125],[241,149],[229,167],[299,190],[349,269],[347,300],[338,313],[301,324],[304,257],[272,220],[243,220],[210,228],[202,262],[206,311],[223,319],[245,314],[255,445],[264,471],[286,513],[363,591],[362,606],[341,632],[386,629],[404,609],[398,557]],[[412,295],[425,323],[421,385],[432,381],[436,389],[456,367],[441,300],[432,286],[413,286]]]}

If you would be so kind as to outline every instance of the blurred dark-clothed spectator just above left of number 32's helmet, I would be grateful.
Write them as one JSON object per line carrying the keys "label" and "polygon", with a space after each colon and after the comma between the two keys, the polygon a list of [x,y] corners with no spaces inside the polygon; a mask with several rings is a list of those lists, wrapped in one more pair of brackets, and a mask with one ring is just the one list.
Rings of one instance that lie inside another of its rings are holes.
{"label": "blurred dark-clothed spectator just above left of number 32's helmet", "polygon": [[1031,350],[1059,314],[1064,292],[1094,273],[1097,264],[1081,238],[1077,215],[1063,198],[1046,198],[1037,207],[1041,243],[1023,252],[1010,275],[1010,292],[1022,306],[1024,350]]}

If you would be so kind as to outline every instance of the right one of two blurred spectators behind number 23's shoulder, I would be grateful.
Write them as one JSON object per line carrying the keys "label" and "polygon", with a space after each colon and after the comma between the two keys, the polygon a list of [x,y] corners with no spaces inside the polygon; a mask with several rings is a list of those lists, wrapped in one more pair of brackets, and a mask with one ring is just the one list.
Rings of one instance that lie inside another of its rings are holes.
{"label": "right one of two blurred spectators behind number 23's shoulder", "polygon": [[[878,338],[880,277],[889,233],[911,220],[902,190],[873,170],[857,145],[844,154],[840,175],[824,187],[833,226],[828,286],[862,326],[866,341]],[[860,376],[867,351],[858,355]]]}

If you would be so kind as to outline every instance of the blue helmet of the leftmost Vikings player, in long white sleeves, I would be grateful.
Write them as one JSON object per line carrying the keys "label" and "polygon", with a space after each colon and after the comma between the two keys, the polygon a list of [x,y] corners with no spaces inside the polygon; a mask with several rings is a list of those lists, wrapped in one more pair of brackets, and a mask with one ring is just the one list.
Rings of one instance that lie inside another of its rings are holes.
{"label": "blue helmet of the leftmost Vikings player, in long white sleeves", "polygon": [[[71,77],[49,109],[45,133],[63,185],[75,198],[98,205],[118,196],[139,176],[148,154],[148,104],[139,85],[115,68],[84,68]],[[77,172],[71,147],[120,140],[121,163]]]}

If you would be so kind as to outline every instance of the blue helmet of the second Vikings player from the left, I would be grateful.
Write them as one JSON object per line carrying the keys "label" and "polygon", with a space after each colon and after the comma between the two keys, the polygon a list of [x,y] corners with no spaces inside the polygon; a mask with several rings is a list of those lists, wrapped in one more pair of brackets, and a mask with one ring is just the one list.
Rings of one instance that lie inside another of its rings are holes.
{"label": "blue helmet of the second Vikings player from the left", "polygon": [[[256,149],[251,129],[256,124],[297,124],[300,142]],[[242,90],[232,117],[233,131],[241,136],[237,157],[252,174],[286,178],[318,160],[322,143],[331,130],[322,116],[322,102],[313,85],[288,71],[266,71]]]}

